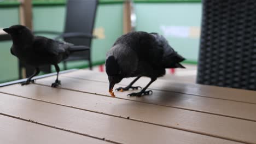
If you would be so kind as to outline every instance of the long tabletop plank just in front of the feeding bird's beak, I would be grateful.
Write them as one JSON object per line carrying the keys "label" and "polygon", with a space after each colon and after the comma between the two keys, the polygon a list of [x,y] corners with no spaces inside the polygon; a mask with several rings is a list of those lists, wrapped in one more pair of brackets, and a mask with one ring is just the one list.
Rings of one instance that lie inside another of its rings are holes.
{"label": "long tabletop plank just in front of the feeding bird's beak", "polygon": [[0,91],[195,133],[256,143],[256,122],[40,85],[13,85],[0,88]]}

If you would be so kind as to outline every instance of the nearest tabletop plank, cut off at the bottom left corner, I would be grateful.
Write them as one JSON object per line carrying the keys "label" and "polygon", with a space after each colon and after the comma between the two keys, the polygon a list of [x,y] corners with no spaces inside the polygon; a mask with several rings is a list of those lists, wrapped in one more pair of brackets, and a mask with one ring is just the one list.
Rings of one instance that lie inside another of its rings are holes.
{"label": "nearest tabletop plank, cut off at the bottom left corner", "polygon": [[3,144],[109,143],[3,115],[0,123],[0,143]]}

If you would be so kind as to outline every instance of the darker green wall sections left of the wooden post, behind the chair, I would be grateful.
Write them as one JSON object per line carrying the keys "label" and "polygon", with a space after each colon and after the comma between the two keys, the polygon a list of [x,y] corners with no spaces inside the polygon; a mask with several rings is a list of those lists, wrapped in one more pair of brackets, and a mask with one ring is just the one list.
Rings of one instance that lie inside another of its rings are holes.
{"label": "darker green wall sections left of the wooden post, behind the chair", "polygon": [[[65,24],[65,5],[36,5],[33,7],[34,31],[62,32]],[[4,15],[8,14],[8,15]],[[0,8],[0,28],[19,23],[18,7]],[[114,17],[114,20],[113,20]],[[92,62],[104,63],[106,52],[114,41],[123,34],[123,5],[121,3],[102,4],[97,9],[95,28],[103,29],[104,38],[92,40]],[[44,35],[44,34],[40,34]],[[44,35],[54,38],[56,35]],[[18,79],[18,61],[10,54],[11,41],[0,41],[0,82]],[[6,64],[6,62],[8,64]],[[68,62],[68,68],[83,68],[86,61]],[[63,65],[60,64],[61,69]],[[54,70],[54,68],[53,68]]]}

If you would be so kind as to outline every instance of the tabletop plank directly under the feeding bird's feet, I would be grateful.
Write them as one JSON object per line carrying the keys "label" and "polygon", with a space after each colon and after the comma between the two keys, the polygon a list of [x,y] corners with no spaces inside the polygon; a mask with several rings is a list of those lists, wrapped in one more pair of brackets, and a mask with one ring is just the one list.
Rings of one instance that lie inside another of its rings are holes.
{"label": "tabletop plank directly under the feeding bird's feet", "polygon": [[[38,80],[36,82],[49,86],[49,83],[54,81],[54,79],[55,77],[48,77],[42,80]],[[63,80],[62,88],[110,96],[108,93],[108,83],[74,79],[71,77],[63,76],[60,76],[60,79]],[[115,92],[115,94],[119,98],[141,101],[143,103],[178,107],[180,109],[200,111],[205,113],[211,113],[214,115],[235,117],[254,122],[256,121],[256,115],[252,115],[252,113],[255,113],[255,104],[241,103],[237,101],[222,99],[212,99],[206,97],[195,97],[194,95],[189,94],[179,94],[157,90],[154,90],[154,93],[152,95],[147,95],[141,98],[127,96],[127,94],[131,92],[132,91]]]}

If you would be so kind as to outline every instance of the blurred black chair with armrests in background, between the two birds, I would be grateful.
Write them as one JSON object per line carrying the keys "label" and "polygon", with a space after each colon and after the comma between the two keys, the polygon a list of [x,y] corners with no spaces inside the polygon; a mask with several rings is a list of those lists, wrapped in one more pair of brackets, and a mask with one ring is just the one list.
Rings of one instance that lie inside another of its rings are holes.
{"label": "blurred black chair with armrests in background, between the two birds", "polygon": [[[51,31],[37,31],[34,34],[58,34],[56,39],[63,39],[68,43],[79,46],[91,47],[92,38],[96,38],[92,35],[96,17],[98,0],[68,0],[66,4],[66,23],[63,33],[51,32]],[[69,58],[63,61],[64,69],[67,69],[68,61],[85,60],[89,62],[89,68],[92,69],[91,63],[91,51],[83,51],[72,53]],[[24,67],[23,64],[19,64],[20,69]],[[51,72],[50,66],[42,67],[42,71],[46,73]],[[21,70],[20,78],[21,78]],[[26,67],[26,75],[33,74],[33,70],[30,67]]]}

